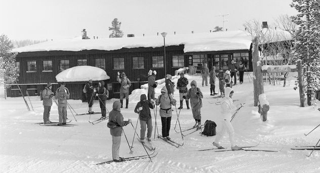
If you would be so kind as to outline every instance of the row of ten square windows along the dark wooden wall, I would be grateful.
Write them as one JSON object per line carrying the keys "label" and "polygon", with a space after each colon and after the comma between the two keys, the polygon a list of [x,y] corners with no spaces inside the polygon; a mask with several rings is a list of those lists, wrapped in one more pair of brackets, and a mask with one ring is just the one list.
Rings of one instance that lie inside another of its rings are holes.
{"label": "row of ten square windows along the dark wooden wall", "polygon": [[[132,57],[133,68],[144,68],[144,57]],[[184,56],[177,55],[172,57],[174,67],[184,66]],[[88,65],[87,59],[77,59],[77,66]],[[95,66],[106,70],[105,59],[95,59]],[[152,56],[152,67],[164,67],[163,56]],[[70,68],[70,61],[60,60],[59,71]],[[113,69],[125,69],[125,58],[113,58]],[[52,72],[52,60],[43,60],[43,72]],[[20,62],[16,62],[16,71],[20,73]],[[27,72],[36,72],[36,61],[27,61]]]}

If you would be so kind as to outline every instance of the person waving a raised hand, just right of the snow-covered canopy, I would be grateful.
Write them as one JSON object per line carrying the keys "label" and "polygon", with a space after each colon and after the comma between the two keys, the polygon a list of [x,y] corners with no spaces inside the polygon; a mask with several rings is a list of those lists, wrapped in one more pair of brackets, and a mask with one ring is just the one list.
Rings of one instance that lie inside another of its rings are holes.
{"label": "person waving a raised hand, just right of the snow-covered canopy", "polygon": [[129,103],[129,87],[131,86],[130,80],[127,78],[125,72],[121,73],[121,78],[119,78],[120,73],[116,76],[117,81],[121,84],[120,87],[120,102],[121,108],[123,108],[123,99],[126,97],[126,109],[128,109]]}

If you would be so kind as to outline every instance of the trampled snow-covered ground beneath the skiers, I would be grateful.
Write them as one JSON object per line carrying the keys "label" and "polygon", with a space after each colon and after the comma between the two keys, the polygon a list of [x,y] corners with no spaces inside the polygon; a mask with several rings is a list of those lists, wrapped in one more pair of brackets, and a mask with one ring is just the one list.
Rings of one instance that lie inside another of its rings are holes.
{"label": "trampled snow-covered ground beneath the skiers", "polygon": [[[221,98],[210,98],[209,86],[202,87],[199,76],[186,75],[186,77],[189,79],[189,84],[195,80],[204,93],[202,122],[216,121],[221,114],[220,106],[215,102],[221,101]],[[288,87],[264,85],[270,103],[266,122],[261,121],[258,108],[253,107],[253,84],[252,81],[251,83],[248,81],[247,74],[242,85],[233,87],[235,90],[233,99],[239,99],[235,103],[246,103],[232,121],[236,144],[246,146],[261,142],[257,149],[282,149],[280,152],[197,151],[212,148],[215,136],[202,136],[196,132],[185,136],[182,141],[181,135],[173,129],[177,119],[174,109],[170,136],[173,140],[184,143],[182,147],[175,148],[160,139],[155,139],[153,144],[158,155],[152,162],[149,159],[142,159],[104,165],[94,164],[112,158],[109,129],[106,127],[106,122],[96,125],[88,122],[90,118],[97,119],[101,115],[75,116],[76,122],[68,110],[68,118],[72,119],[72,124],[77,124],[76,126],[39,126],[34,124],[43,121],[43,106],[39,97],[30,97],[34,111],[29,112],[22,97],[9,97],[5,100],[4,89],[0,88],[0,169],[1,172],[320,172],[319,151],[314,151],[310,157],[306,157],[310,150],[290,150],[294,146],[315,145],[320,137],[320,127],[308,136],[303,134],[320,123],[320,112],[314,106],[299,107],[299,93],[292,89],[294,79],[290,79],[292,81]],[[174,79],[173,82],[177,83],[177,80]],[[164,84],[161,84],[157,87],[156,96],[160,94],[163,86]],[[133,120],[133,124],[136,124],[138,119],[133,109],[142,93],[146,91],[135,90],[130,95],[129,109],[121,111],[125,119]],[[174,97],[179,99],[177,91]],[[26,100],[29,102],[27,97]],[[114,100],[107,101],[109,111]],[[87,103],[81,100],[68,101],[77,113],[88,111]],[[100,111],[98,102],[94,102],[93,107],[93,111]],[[151,113],[153,117],[153,111]],[[51,120],[58,121],[55,104],[52,106],[50,117]],[[187,129],[194,124],[191,110],[185,109],[185,102],[179,120],[181,129]],[[154,119],[152,121],[154,124]],[[159,116],[157,122],[161,131]],[[134,129],[128,125],[124,130],[131,145]],[[221,140],[221,145],[230,147],[227,134]],[[136,140],[133,146],[134,153],[130,154],[123,136],[120,155],[131,157],[145,154],[141,144]]]}

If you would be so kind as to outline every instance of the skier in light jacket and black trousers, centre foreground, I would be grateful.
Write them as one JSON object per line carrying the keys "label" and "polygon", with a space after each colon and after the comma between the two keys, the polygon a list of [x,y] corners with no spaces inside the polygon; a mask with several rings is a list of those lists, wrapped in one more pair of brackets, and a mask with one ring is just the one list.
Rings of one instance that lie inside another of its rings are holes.
{"label": "skier in light jacket and black trousers, centre foreground", "polygon": [[162,136],[165,140],[170,140],[169,131],[171,126],[172,108],[171,105],[176,105],[176,100],[172,95],[168,94],[167,87],[164,86],[161,89],[161,95],[155,100],[155,105],[160,105],[159,114],[161,116],[162,123]]}

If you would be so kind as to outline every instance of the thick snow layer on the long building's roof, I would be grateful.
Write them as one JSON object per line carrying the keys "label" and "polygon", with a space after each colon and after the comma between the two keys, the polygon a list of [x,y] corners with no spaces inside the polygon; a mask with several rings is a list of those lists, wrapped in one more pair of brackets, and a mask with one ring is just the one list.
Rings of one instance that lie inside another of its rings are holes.
{"label": "thick snow layer on the long building's roof", "polygon": [[[209,33],[168,34],[166,46],[184,45],[184,52],[222,51],[250,49],[252,37],[246,31],[223,31]],[[34,51],[81,51],[118,50],[121,48],[162,47],[164,38],[159,36],[108,38],[108,39],[65,39],[43,42],[13,49],[13,52]]]}

